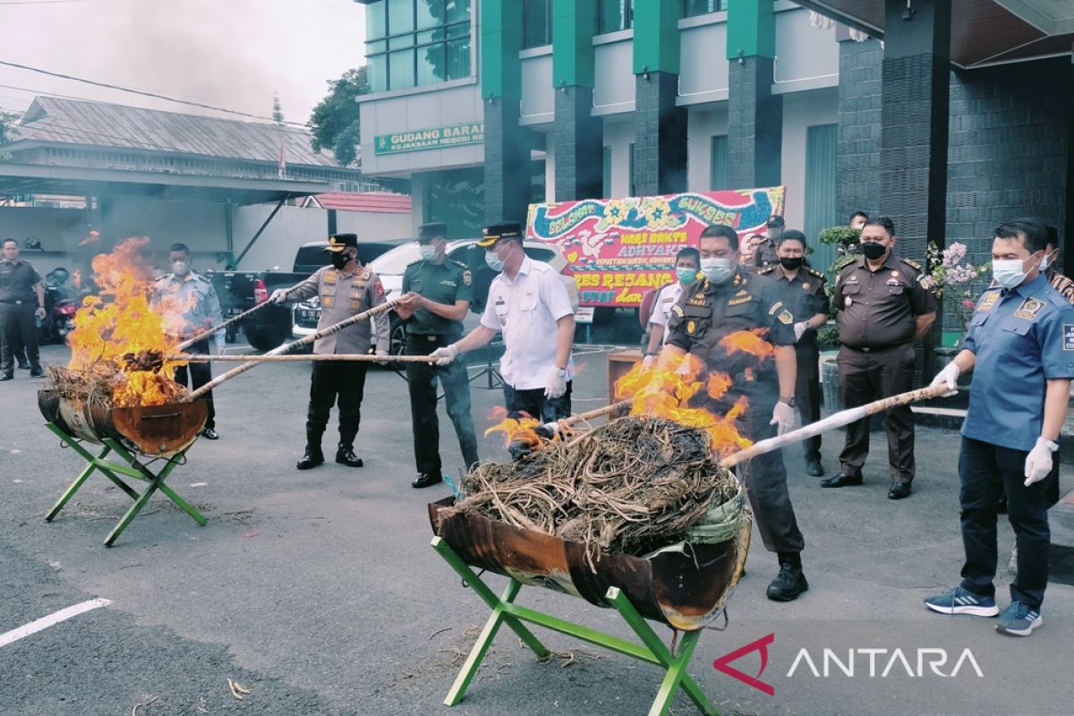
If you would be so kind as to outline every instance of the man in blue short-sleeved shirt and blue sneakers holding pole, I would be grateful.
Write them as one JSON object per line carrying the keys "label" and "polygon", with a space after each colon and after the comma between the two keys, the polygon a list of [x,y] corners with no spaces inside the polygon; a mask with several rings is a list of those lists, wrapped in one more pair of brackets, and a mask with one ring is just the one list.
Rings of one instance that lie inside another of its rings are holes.
{"label": "man in blue short-sleeved shirt and blue sneakers holding pole", "polygon": [[996,514],[1001,491],[1018,546],[1018,575],[997,631],[1029,635],[1041,626],[1048,579],[1049,481],[1074,379],[1074,307],[1040,272],[1046,234],[1040,224],[996,229],[996,286],[977,302],[962,351],[933,379],[954,392],[973,370],[959,455],[962,582],[929,597],[942,614],[995,616]]}

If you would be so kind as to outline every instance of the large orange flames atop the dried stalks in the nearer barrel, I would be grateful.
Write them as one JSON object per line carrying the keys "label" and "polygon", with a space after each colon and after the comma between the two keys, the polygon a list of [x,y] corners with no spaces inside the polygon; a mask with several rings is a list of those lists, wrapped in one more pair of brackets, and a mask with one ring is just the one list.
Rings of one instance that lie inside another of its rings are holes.
{"label": "large orange flames atop the dried stalks in the nearer barrel", "polygon": [[686,427],[706,430],[712,439],[712,450],[721,456],[729,455],[753,444],[739,435],[735,421],[749,407],[742,396],[720,417],[703,408],[691,408],[690,399],[702,389],[713,399],[724,396],[731,385],[731,378],[724,372],[709,374],[707,381],[698,379],[700,360],[686,354],[682,359],[665,354],[657,367],[636,365],[615,383],[616,399],[632,399],[632,415],[650,415],[672,420]]}

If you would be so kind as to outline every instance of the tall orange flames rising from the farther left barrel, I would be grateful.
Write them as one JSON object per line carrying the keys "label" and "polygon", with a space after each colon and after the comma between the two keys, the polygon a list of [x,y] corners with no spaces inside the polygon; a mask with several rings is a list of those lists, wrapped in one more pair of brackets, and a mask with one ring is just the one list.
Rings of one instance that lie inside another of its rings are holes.
{"label": "tall orange flames rising from the farther left barrel", "polygon": [[87,296],[75,315],[71,346],[71,370],[108,375],[112,403],[118,407],[161,405],[184,395],[185,389],[170,376],[176,362],[164,361],[157,370],[139,370],[124,356],[156,351],[178,352],[177,340],[164,334],[160,316],[149,308],[153,271],[142,261],[148,238],[129,238],[112,253],[93,258],[93,279],[99,295]]}

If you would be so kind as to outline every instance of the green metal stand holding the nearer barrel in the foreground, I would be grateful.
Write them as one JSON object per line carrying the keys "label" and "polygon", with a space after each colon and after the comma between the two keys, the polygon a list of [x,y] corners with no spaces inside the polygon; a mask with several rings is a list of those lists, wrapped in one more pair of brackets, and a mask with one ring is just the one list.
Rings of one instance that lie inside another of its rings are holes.
{"label": "green metal stand holding the nearer barrel in the foreground", "polygon": [[667,714],[671,707],[671,701],[674,699],[674,695],[680,687],[686,691],[686,696],[697,704],[701,713],[707,716],[720,716],[715,706],[706,698],[697,683],[686,673],[686,664],[690,662],[694,654],[694,648],[697,646],[697,640],[701,635],[700,630],[686,632],[679,647],[679,653],[672,654],[665,646],[664,642],[661,641],[661,638],[656,635],[652,627],[649,626],[644,617],[634,608],[634,604],[630,603],[619,588],[611,587],[608,589],[607,598],[615,611],[619,612],[620,616],[623,617],[623,620],[626,622],[627,626],[641,640],[641,644],[635,644],[572,622],[566,622],[549,614],[514,604],[514,598],[522,588],[522,585],[514,580],[508,580],[507,588],[504,590],[503,596],[497,597],[442,538],[434,537],[432,544],[433,549],[444,557],[444,560],[455,570],[470,588],[474,589],[474,593],[492,610],[492,615],[485,623],[484,629],[481,630],[481,634],[466,658],[462,671],[459,672],[455,683],[451,686],[451,690],[448,691],[448,697],[444,700],[445,704],[453,706],[462,701],[466,695],[466,688],[469,686],[470,681],[473,681],[477,670],[481,667],[481,661],[489,652],[492,640],[496,637],[500,625],[506,624],[511,631],[518,634],[522,642],[533,649],[537,658],[548,658],[549,651],[545,648],[523,624],[527,622],[545,627],[546,629],[575,637],[618,654],[624,654],[640,661],[661,667],[665,672],[664,681],[661,683],[659,691],[656,693],[656,700],[653,701],[653,705],[649,710],[650,716],[663,716]]}

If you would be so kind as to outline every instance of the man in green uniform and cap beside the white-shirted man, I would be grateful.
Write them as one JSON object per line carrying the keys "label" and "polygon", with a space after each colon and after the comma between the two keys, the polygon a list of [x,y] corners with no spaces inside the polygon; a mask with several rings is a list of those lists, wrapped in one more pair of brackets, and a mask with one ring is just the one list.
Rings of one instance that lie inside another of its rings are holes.
{"label": "man in green uniform and cap beside the white-shirted man", "polygon": [[[396,312],[406,321],[406,352],[429,355],[450,346],[463,335],[463,319],[474,297],[474,279],[464,263],[446,255],[448,227],[426,223],[418,229],[421,261],[403,274],[403,297]],[[413,457],[418,477],[413,487],[429,487],[444,480],[440,464],[440,429],[436,417],[436,380],[444,385],[445,407],[455,426],[465,469],[477,463],[477,436],[470,418],[466,364],[446,366],[408,363],[410,421],[413,425]]]}

